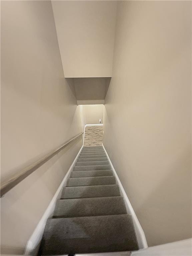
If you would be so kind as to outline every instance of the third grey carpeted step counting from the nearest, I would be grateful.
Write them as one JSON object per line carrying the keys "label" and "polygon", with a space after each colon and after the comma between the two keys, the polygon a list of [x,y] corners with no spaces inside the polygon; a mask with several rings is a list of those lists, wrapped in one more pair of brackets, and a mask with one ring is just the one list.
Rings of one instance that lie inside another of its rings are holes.
{"label": "third grey carpeted step counting from the nearest", "polygon": [[119,186],[117,184],[112,184],[97,186],[64,187],[61,198],[94,198],[120,195],[121,194]]}

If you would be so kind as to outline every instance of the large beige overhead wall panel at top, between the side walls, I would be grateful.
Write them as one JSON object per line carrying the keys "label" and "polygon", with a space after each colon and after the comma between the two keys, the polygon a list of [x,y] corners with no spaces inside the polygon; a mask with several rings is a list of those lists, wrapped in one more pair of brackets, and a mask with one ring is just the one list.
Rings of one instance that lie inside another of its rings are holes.
{"label": "large beige overhead wall panel at top, between the side walls", "polygon": [[52,1],[65,77],[110,77],[116,1]]}

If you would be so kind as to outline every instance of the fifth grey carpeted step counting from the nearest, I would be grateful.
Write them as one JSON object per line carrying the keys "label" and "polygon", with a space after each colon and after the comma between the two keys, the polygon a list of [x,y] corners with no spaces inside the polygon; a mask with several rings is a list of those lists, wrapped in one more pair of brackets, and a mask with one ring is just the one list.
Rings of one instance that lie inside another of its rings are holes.
{"label": "fifth grey carpeted step counting from the nearest", "polygon": [[113,176],[112,170],[71,172],[70,178]]}

